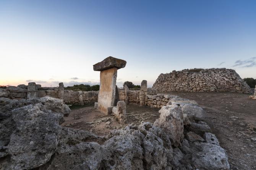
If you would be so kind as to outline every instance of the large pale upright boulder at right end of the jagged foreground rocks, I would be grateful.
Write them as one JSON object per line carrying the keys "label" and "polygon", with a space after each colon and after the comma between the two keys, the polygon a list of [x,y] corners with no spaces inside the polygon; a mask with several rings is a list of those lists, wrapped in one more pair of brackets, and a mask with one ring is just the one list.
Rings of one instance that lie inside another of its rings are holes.
{"label": "large pale upright boulder at right end of the jagged foreground rocks", "polygon": [[154,122],[154,126],[170,135],[172,145],[177,147],[183,140],[183,114],[181,108],[177,105],[163,106],[160,111],[159,119]]}

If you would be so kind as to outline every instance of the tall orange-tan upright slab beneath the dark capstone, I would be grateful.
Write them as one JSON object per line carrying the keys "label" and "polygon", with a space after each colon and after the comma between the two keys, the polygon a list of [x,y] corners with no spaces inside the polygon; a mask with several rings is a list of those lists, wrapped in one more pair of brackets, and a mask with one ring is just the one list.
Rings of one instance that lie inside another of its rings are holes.
{"label": "tall orange-tan upright slab beneath the dark capstone", "polygon": [[114,106],[116,81],[116,67],[100,72],[100,91],[97,110],[102,113],[108,114],[107,108]]}

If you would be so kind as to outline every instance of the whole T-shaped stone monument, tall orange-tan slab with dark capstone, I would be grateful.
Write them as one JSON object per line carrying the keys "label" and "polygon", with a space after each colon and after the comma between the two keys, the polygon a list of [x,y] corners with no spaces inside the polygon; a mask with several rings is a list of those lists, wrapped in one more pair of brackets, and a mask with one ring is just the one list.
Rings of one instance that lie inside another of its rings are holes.
{"label": "whole T-shaped stone monument, tall orange-tan slab with dark capstone", "polygon": [[113,106],[117,104],[117,70],[124,68],[125,65],[125,60],[111,56],[93,65],[94,71],[100,71],[99,98],[98,103],[95,103],[95,107],[98,111],[104,114],[110,114],[112,112]]}

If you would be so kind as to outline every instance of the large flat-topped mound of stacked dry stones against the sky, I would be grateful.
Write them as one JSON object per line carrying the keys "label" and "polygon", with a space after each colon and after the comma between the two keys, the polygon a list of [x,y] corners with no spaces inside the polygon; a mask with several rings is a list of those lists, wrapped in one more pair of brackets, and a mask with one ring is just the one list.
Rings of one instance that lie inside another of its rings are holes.
{"label": "large flat-topped mound of stacked dry stones against the sky", "polygon": [[157,91],[232,91],[251,93],[250,87],[232,69],[185,69],[160,74],[153,85]]}

